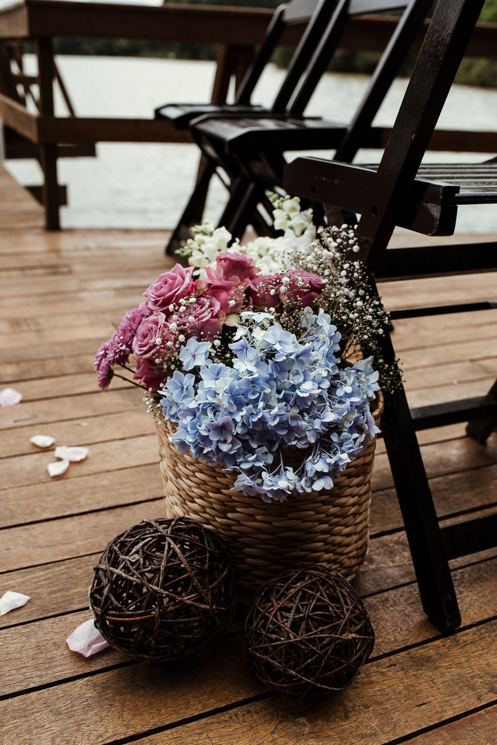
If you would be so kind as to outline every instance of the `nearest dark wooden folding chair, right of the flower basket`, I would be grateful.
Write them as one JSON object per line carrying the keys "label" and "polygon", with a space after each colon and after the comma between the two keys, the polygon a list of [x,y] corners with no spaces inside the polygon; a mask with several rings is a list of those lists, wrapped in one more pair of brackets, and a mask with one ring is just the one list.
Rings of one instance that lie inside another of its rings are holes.
{"label": "nearest dark wooden folding chair, right of the flower basket", "polygon": [[[286,167],[291,194],[359,213],[358,255],[378,279],[497,269],[497,241],[388,249],[395,226],[452,235],[458,207],[497,202],[497,163],[420,165],[484,0],[438,0],[381,162],[375,167],[298,158]],[[397,317],[496,308],[496,300],[409,308]],[[395,317],[395,314],[393,314]],[[394,358],[385,338],[385,359]],[[440,630],[461,623],[449,560],[497,545],[497,513],[440,527],[415,430],[467,422],[484,442],[497,424],[497,384],[478,399],[409,410],[404,390],[385,396],[382,429],[426,614]]]}

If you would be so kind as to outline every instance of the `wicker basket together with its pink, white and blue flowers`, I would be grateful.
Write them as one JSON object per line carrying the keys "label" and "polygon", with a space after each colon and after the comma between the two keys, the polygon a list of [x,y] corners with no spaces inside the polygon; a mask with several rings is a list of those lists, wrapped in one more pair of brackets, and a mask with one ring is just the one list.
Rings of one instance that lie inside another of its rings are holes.
{"label": "wicker basket together with its pink, white and blue flowers", "polygon": [[158,276],[94,359],[101,388],[129,379],[121,368],[144,389],[167,516],[221,533],[242,600],[286,567],[356,573],[380,373],[388,384],[378,352],[388,316],[353,259],[353,229],[316,238],[298,199],[272,198],[283,235],[242,246],[197,226],[182,250],[190,266]]}

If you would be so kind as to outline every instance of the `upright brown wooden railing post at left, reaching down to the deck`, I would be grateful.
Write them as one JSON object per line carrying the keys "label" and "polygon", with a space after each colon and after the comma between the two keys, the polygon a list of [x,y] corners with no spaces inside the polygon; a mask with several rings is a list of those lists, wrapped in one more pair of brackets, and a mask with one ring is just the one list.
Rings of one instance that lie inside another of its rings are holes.
{"label": "upright brown wooden railing post at left, reaching down to the deck", "polygon": [[[36,39],[38,57],[39,109],[42,116],[54,115],[54,52],[51,37]],[[42,165],[43,204],[45,226],[48,230],[59,230],[59,184],[57,182],[57,145],[39,143],[39,159]]]}

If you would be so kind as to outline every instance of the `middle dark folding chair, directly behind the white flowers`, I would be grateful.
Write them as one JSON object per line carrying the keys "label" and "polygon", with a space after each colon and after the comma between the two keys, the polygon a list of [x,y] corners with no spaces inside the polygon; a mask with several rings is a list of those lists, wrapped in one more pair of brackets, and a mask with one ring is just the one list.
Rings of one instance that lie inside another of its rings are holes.
{"label": "middle dark folding chair, directly behind the white flowers", "polygon": [[[210,168],[222,169],[228,174],[230,194],[219,224],[225,225],[235,237],[241,237],[249,223],[260,234],[272,235],[271,221],[257,207],[261,205],[266,211],[269,209],[269,214],[271,212],[266,189],[281,186],[285,150],[336,148],[347,135],[344,158],[348,159],[349,153],[352,157],[359,145],[384,145],[384,130],[371,128],[371,122],[430,4],[429,0],[339,0],[327,24],[316,11],[270,112],[262,117],[257,112],[242,116],[240,113],[205,115],[191,121],[190,136],[201,148]],[[403,10],[403,15],[376,67],[350,130],[347,124],[304,118],[315,86],[338,48],[350,19],[366,11],[385,13],[394,8]],[[168,251],[190,235],[190,208],[196,204],[196,192],[205,186],[202,177],[173,233]]]}

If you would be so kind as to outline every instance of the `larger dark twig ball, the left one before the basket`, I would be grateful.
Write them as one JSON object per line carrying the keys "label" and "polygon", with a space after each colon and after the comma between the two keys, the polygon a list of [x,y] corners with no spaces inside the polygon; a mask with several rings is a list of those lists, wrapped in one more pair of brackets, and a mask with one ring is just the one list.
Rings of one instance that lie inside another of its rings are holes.
{"label": "larger dark twig ball, the left one before the basket", "polygon": [[112,647],[150,662],[188,659],[234,616],[231,554],[199,522],[144,520],[103,551],[89,600]]}

